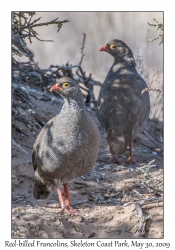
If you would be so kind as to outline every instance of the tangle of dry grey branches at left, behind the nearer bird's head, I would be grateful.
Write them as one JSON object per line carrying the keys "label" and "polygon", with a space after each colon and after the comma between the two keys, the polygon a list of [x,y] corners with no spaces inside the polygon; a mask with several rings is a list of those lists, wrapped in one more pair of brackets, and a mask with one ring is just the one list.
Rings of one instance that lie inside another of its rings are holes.
{"label": "tangle of dry grey branches at left, behind the nearer bird's head", "polygon": [[[49,92],[50,87],[60,77],[68,76],[73,78],[80,88],[87,92],[85,102],[90,108],[96,106],[93,94],[94,85],[101,85],[101,83],[93,81],[91,74],[86,77],[81,67],[86,34],[83,34],[79,64],[50,65],[47,69],[39,67],[33,60],[33,53],[27,48],[26,39],[29,39],[30,42],[32,42],[32,38],[39,39],[38,33],[35,31],[36,27],[57,24],[59,30],[62,24],[69,22],[69,20],[58,21],[58,18],[56,18],[49,22],[40,23],[41,18],[32,20],[34,15],[35,12],[12,12],[12,98],[15,99],[12,100],[12,122],[14,131],[20,134],[22,134],[22,131],[16,121],[25,123],[31,131],[37,131],[34,126],[41,129],[45,124],[45,121],[36,113],[36,106],[32,103],[31,96],[37,100],[62,104],[63,101],[57,93],[51,94]],[[28,61],[18,61],[14,56],[26,57]],[[78,73],[74,70],[77,70]],[[92,106],[92,103],[94,106]]]}

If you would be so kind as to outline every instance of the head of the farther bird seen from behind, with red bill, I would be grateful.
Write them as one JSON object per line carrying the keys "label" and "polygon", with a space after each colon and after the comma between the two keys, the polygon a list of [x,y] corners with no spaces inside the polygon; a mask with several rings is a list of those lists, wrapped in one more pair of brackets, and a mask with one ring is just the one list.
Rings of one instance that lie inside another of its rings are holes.
{"label": "head of the farther bird seen from behind, with red bill", "polygon": [[108,42],[105,46],[100,48],[100,51],[106,51],[114,57],[115,60],[123,59],[132,59],[133,54],[131,49],[121,40],[114,39]]}

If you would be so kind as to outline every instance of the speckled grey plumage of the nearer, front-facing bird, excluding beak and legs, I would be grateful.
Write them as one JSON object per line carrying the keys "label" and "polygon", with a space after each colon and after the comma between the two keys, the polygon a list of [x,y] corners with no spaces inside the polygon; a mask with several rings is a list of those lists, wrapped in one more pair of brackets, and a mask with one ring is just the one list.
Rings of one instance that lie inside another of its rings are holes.
{"label": "speckled grey plumage of the nearer, front-facing bird, excluding beak and legs", "polygon": [[69,183],[89,172],[98,155],[99,131],[86,111],[82,92],[72,79],[59,79],[60,84],[63,82],[69,82],[72,88],[61,94],[62,110],[48,121],[33,146],[35,198],[38,186],[40,198],[46,198],[54,185]]}

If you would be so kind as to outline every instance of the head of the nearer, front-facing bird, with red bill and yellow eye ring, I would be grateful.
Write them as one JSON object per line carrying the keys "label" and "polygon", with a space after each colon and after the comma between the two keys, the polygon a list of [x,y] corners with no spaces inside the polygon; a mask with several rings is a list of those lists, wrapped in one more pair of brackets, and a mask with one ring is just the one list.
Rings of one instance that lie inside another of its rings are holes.
{"label": "head of the nearer, front-facing bird, with red bill and yellow eye ring", "polygon": [[57,91],[63,98],[73,98],[79,90],[78,84],[70,77],[62,77],[50,89],[50,92]]}

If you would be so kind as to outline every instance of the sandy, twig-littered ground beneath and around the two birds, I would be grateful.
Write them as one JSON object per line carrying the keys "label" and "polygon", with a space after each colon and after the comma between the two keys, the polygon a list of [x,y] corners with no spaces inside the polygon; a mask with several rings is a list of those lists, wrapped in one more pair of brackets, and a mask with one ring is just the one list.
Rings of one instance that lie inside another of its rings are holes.
{"label": "sandy, twig-littered ground beneath and around the two birds", "polygon": [[[60,106],[31,97],[37,105],[36,112],[48,121],[60,111]],[[96,118],[95,111],[89,111],[97,123],[101,134],[101,145],[97,163],[86,175],[69,184],[72,205],[77,215],[61,214],[60,203],[54,191],[47,200],[36,201],[32,195],[34,171],[31,151],[41,128],[31,131],[19,123],[23,132],[13,131],[13,139],[29,156],[13,146],[12,154],[12,238],[136,238],[139,218],[135,205],[124,207],[131,201],[155,197],[142,185],[139,164],[155,159],[153,176],[163,168],[163,158],[159,154],[139,144],[139,135],[134,142],[136,163],[127,163],[126,156],[119,157],[121,164],[112,164],[111,155]],[[27,114],[26,114],[27,115]],[[147,141],[146,143],[150,143]],[[157,202],[142,207],[150,216],[142,232],[143,238],[163,238],[163,203]]]}

